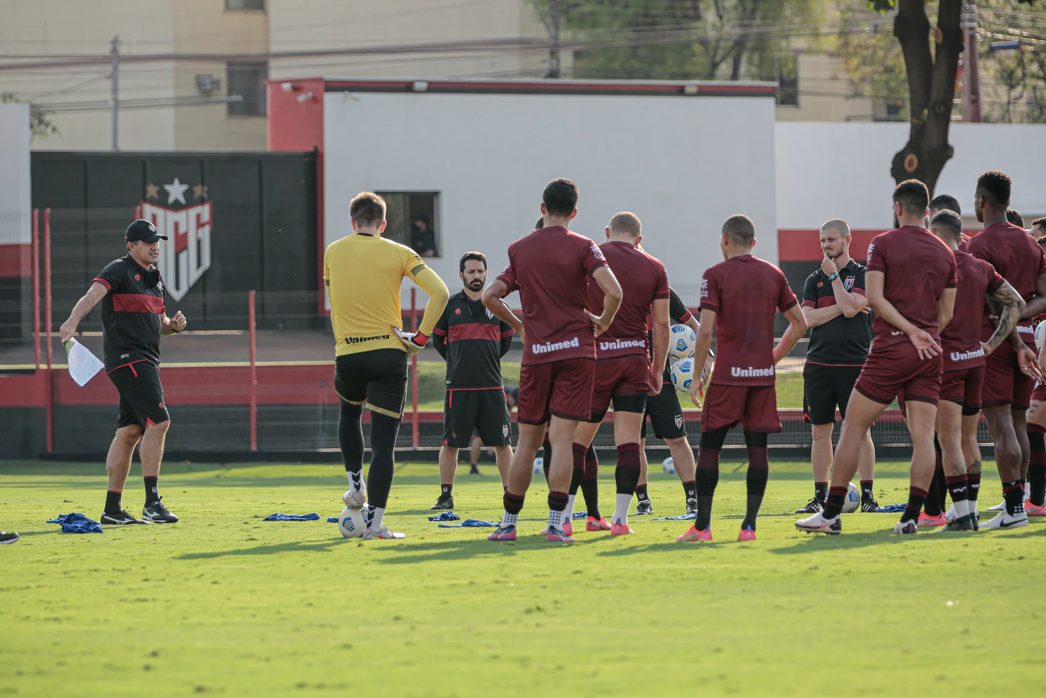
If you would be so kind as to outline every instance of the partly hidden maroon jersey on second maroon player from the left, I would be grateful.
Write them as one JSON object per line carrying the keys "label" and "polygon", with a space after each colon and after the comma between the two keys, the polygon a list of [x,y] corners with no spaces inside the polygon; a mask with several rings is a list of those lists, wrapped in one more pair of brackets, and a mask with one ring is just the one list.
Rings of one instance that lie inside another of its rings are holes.
{"label": "partly hidden maroon jersey on second maroon player from the left", "polygon": [[[621,286],[623,299],[610,328],[596,338],[596,358],[646,354],[651,303],[668,297],[668,273],[660,260],[632,243],[614,240],[599,245],[599,249]],[[589,310],[593,315],[602,315],[602,289],[589,284]]]}

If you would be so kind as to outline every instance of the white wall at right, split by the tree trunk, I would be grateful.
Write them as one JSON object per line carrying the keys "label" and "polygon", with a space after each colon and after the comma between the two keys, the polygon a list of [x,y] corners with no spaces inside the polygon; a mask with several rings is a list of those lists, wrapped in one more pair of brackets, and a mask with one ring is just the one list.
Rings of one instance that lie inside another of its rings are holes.
{"label": "white wall at right, split by the tree trunk", "polygon": [[[889,228],[893,154],[908,140],[907,123],[777,122],[777,227],[818,228],[831,218],[852,228]],[[1002,170],[1014,179],[1010,206],[1025,223],[1046,215],[1042,162],[1046,126],[953,123],[955,155],[945,165],[935,194],[959,200],[973,213],[977,177]]]}

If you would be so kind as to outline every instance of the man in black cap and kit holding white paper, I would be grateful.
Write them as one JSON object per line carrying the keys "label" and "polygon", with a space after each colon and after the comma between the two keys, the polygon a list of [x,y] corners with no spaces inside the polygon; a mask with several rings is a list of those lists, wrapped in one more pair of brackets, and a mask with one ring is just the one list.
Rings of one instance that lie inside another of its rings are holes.
{"label": "man in black cap and kit holding white paper", "polygon": [[[94,277],[60,330],[62,341],[76,336],[76,325],[101,301],[106,374],[120,393],[116,437],[106,456],[109,491],[101,523],[108,525],[178,521],[160,501],[157,486],[163,441],[170,426],[160,384],[160,335],[179,333],[186,324],[181,311],[174,317],[165,312],[163,278],[156,262],[160,258],[159,241],[166,239],[149,221],[129,225],[124,234],[128,253],[110,262]],[[145,505],[141,519],[136,519],[123,510],[120,500],[139,441]]]}

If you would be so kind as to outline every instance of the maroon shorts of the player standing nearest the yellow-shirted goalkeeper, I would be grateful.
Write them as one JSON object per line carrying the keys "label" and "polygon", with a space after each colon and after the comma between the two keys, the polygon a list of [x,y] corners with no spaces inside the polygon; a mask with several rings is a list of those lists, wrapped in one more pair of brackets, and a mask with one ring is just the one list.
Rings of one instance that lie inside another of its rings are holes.
{"label": "maroon shorts of the player standing nearest the yellow-shirted goalkeeper", "polygon": [[525,364],[520,368],[517,421],[545,424],[550,414],[587,422],[592,414],[595,359],[576,358]]}

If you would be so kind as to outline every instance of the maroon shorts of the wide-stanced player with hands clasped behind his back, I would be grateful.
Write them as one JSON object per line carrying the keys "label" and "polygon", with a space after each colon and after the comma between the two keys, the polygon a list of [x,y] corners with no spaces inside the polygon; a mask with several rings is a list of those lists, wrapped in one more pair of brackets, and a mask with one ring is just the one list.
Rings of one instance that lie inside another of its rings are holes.
{"label": "maroon shorts of the wide-stanced player with hands clasped behind his back", "polygon": [[919,359],[915,346],[907,339],[883,347],[872,344],[854,389],[881,405],[889,405],[901,393],[909,402],[936,405],[943,368],[943,354]]}

